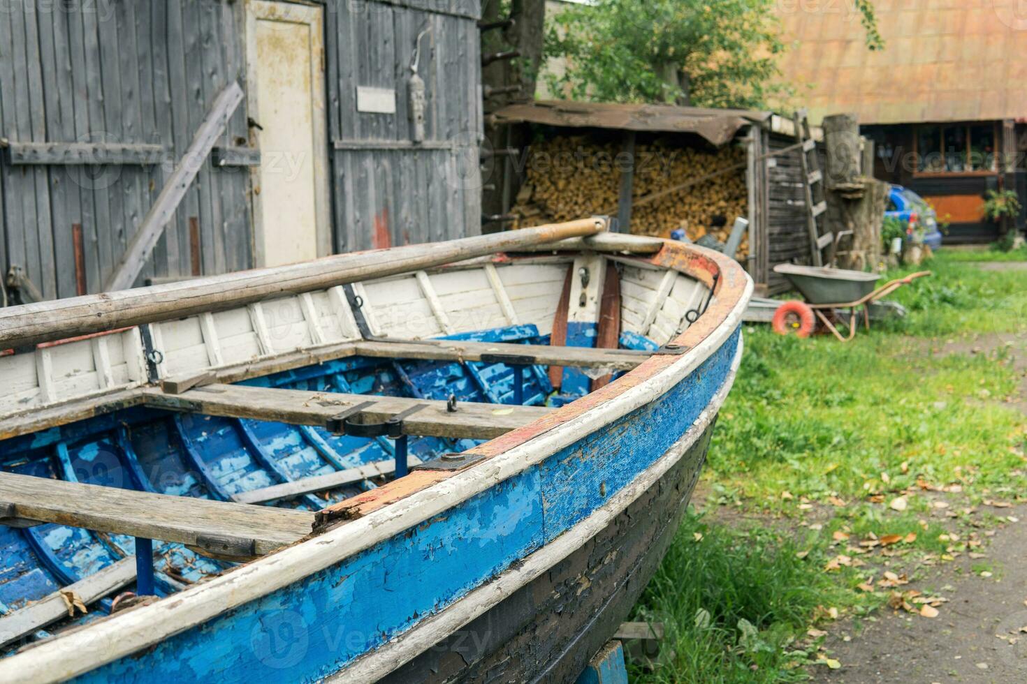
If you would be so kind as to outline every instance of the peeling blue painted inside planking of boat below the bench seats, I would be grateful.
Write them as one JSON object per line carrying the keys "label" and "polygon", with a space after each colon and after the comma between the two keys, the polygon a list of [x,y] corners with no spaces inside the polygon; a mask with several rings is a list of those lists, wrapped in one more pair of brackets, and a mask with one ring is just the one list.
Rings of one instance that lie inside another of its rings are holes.
{"label": "peeling blue painted inside planking of boat below the bench seats", "polygon": [[[474,341],[547,345],[534,325],[445,337]],[[620,347],[654,350],[656,344],[624,333]],[[523,403],[560,406],[578,394],[558,394],[545,366],[523,373],[501,363],[440,362],[352,357],[279,372],[242,383],[269,388],[338,392],[494,404],[515,403],[515,377],[522,377]],[[565,384],[566,385],[566,384]],[[575,386],[577,387],[577,386]],[[463,451],[478,442],[409,439],[409,454],[421,461]],[[11,473],[72,482],[232,500],[234,495],[275,484],[355,467],[388,462],[395,442],[386,438],[335,435],[321,428],[176,413],[151,408],[120,412],[51,428],[0,442],[0,468]],[[330,491],[306,493],[269,506],[316,511],[380,486],[364,480]],[[232,564],[204,557],[178,544],[153,542],[154,592],[165,596],[216,575]],[[17,610],[136,553],[131,537],[56,524],[25,529],[0,526],[0,615]],[[121,591],[135,592],[135,585]],[[49,628],[63,630],[108,614],[112,597],[84,614]],[[75,612],[73,610],[73,612]],[[49,636],[40,631],[9,645]]]}

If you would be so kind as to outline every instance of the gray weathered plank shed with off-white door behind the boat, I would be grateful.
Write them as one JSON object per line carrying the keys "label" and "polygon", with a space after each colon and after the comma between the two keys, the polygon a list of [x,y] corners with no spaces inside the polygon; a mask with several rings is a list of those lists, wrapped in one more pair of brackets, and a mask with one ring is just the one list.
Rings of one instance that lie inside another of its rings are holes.
{"label": "gray weathered plank shed with off-white door behind the boat", "polygon": [[5,3],[9,300],[479,233],[479,15],[480,0]]}

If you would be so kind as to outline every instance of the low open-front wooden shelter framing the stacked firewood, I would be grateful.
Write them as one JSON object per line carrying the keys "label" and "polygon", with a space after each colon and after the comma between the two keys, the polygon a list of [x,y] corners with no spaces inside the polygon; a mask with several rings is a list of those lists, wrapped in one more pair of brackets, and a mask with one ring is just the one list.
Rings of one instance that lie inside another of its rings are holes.
{"label": "low open-front wooden shelter framing the stacked firewood", "polygon": [[[690,184],[723,172],[744,176],[748,197],[744,198],[743,215],[749,219],[749,249],[743,266],[756,281],[758,292],[773,294],[788,289],[787,282],[773,273],[774,266],[809,263],[806,179],[792,119],[771,112],[563,100],[510,105],[490,117],[496,125],[507,128],[505,139],[511,146],[494,155],[498,163],[486,167],[485,205],[499,211],[497,218],[509,218],[518,191],[527,178],[532,148],[547,139],[589,135],[613,140],[619,154],[632,159],[617,175],[619,182],[614,180],[620,184],[614,207],[600,202],[592,208],[595,213],[615,211],[624,232],[637,232],[633,229],[633,203],[639,202],[640,193],[634,186],[636,169],[644,165],[641,156],[636,156],[638,146],[658,140],[680,149],[734,147],[744,150],[741,162],[713,173],[696,169],[694,177],[680,186],[680,194],[687,194]],[[813,128],[812,135],[817,143],[823,140],[820,128]]]}

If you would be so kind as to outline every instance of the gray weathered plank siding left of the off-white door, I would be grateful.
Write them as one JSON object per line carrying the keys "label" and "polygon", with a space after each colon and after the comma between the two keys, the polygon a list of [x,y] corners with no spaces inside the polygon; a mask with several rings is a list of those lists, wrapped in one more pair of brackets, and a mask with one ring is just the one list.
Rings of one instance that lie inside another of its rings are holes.
{"label": "gray weathered plank siding left of the off-white door", "polygon": [[[22,266],[47,297],[102,288],[210,103],[244,78],[241,5],[218,0],[6,3],[0,14],[0,135],[17,143],[156,144],[159,164],[0,164],[4,270]],[[244,139],[239,109],[228,128]],[[189,223],[203,273],[250,264],[244,169],[207,161],[143,277],[191,275]]]}

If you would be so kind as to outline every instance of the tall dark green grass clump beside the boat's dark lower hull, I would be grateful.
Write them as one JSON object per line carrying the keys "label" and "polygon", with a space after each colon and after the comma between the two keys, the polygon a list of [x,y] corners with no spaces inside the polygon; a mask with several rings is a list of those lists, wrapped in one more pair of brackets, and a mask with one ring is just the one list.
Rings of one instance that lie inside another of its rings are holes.
{"label": "tall dark green grass clump beside the boat's dark lower hull", "polygon": [[[689,514],[636,608],[667,629],[660,667],[638,682],[778,682],[804,679],[815,646],[798,638],[843,592],[823,555],[770,530],[733,530]],[[808,639],[806,641],[809,641]]]}

